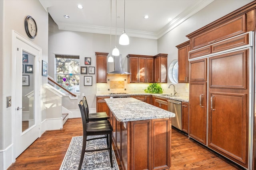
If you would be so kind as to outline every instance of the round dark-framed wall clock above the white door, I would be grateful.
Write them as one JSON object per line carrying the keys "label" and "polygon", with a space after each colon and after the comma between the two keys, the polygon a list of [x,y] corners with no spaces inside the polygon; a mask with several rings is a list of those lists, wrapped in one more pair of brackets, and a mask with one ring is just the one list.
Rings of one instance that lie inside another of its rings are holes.
{"label": "round dark-framed wall clock above the white door", "polygon": [[34,18],[32,18],[32,16],[27,16],[24,25],[28,37],[35,38],[37,33],[37,26]]}

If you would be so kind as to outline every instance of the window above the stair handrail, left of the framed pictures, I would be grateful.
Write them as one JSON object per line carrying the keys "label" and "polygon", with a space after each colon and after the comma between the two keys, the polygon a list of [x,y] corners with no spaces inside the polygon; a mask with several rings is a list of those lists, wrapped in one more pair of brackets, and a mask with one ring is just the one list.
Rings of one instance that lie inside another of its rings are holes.
{"label": "window above the stair handrail, left of the framed pictures", "polygon": [[[79,92],[79,56],[55,55],[57,83],[70,92]],[[65,92],[56,86],[61,92]]]}

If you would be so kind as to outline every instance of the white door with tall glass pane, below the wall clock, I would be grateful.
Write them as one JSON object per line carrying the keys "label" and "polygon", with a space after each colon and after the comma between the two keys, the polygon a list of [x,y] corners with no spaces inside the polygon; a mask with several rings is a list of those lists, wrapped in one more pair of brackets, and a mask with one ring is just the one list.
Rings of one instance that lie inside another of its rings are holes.
{"label": "white door with tall glass pane, below the wall clock", "polygon": [[16,36],[13,45],[14,87],[12,97],[15,158],[40,137],[41,116],[40,48],[30,41]]}

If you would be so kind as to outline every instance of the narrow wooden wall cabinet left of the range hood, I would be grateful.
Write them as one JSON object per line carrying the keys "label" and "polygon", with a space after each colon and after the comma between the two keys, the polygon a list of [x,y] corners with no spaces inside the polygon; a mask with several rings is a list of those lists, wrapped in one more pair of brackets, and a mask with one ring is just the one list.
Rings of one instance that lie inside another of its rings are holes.
{"label": "narrow wooden wall cabinet left of the range hood", "polygon": [[96,52],[95,55],[96,55],[96,83],[106,83],[108,53]]}

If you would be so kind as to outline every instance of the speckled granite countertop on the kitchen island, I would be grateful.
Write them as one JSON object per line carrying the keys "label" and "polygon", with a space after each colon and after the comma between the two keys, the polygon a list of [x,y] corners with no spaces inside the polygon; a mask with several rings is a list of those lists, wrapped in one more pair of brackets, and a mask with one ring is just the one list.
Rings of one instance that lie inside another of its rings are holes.
{"label": "speckled granite countertop on the kitchen island", "polygon": [[117,121],[139,121],[175,117],[175,114],[135,98],[106,98]]}

